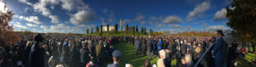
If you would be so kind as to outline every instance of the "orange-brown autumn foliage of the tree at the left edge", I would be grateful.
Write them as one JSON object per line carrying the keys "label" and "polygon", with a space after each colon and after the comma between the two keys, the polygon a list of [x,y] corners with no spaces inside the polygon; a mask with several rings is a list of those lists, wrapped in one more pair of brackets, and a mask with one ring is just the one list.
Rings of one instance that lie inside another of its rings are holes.
{"label": "orange-brown autumn foliage of the tree at the left edge", "polygon": [[0,11],[0,47],[14,45],[19,40],[13,26],[9,25],[13,15],[6,6]]}

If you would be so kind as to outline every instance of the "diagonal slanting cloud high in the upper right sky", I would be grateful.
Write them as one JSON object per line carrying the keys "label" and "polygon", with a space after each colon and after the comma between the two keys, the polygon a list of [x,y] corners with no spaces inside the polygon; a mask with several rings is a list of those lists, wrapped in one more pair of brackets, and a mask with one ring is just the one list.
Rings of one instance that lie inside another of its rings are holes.
{"label": "diagonal slanting cloud high in the upper right sky", "polygon": [[206,1],[196,6],[193,11],[190,11],[187,20],[194,20],[195,17],[201,17],[201,15],[210,8],[210,1]]}

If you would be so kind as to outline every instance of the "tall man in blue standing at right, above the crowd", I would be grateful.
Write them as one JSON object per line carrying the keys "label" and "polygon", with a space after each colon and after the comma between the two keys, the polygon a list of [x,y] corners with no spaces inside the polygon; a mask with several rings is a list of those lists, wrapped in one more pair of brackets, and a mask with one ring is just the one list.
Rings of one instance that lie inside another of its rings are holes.
{"label": "tall man in blue standing at right, above the crowd", "polygon": [[217,31],[217,42],[214,44],[212,54],[214,55],[214,66],[215,67],[226,67],[226,48],[223,39],[223,31]]}

